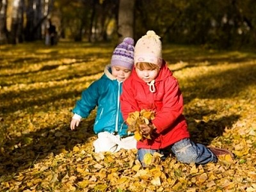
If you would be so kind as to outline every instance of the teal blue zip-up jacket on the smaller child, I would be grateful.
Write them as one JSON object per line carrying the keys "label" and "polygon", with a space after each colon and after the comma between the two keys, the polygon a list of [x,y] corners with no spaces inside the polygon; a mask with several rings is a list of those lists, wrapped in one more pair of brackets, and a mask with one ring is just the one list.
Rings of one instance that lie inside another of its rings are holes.
{"label": "teal blue zip-up jacket on the smaller child", "polygon": [[116,80],[111,74],[108,65],[99,80],[94,81],[82,92],[80,100],[77,100],[73,113],[86,118],[97,107],[97,115],[93,125],[93,131],[108,131],[120,136],[127,136],[127,125],[120,111],[120,94],[122,82]]}

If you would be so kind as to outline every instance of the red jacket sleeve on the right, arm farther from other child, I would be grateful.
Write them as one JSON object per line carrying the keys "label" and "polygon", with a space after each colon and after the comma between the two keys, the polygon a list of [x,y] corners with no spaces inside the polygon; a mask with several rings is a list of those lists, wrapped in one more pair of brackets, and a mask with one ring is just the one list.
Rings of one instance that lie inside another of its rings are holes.
{"label": "red jacket sleeve on the right, arm farther from other child", "polygon": [[161,133],[166,128],[172,127],[173,123],[182,115],[183,98],[179,84],[175,77],[170,77],[164,84],[163,107],[157,112],[152,123],[156,126],[156,132]]}

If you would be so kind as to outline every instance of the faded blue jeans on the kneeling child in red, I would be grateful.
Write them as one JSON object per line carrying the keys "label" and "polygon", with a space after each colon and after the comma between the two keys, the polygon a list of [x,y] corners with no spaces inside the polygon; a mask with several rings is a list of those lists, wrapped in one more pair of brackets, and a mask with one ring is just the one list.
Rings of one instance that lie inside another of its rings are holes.
{"label": "faded blue jeans on the kneeling child in red", "polygon": [[211,150],[200,143],[194,143],[189,138],[180,140],[161,150],[140,148],[137,155],[138,159],[144,166],[143,157],[145,154],[149,153],[153,155],[154,152],[170,154],[171,151],[181,163],[206,164],[217,161],[217,157],[211,152]]}

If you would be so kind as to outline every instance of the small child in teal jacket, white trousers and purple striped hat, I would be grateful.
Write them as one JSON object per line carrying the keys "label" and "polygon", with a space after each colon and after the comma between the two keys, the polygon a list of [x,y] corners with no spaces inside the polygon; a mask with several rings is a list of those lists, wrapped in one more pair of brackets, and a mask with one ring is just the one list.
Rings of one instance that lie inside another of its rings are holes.
{"label": "small child in teal jacket, white trousers and purple striped hat", "polygon": [[134,136],[127,134],[127,125],[120,111],[122,84],[131,75],[133,57],[134,40],[127,37],[115,48],[111,64],[105,67],[103,76],[83,91],[81,99],[73,109],[71,130],[76,129],[81,118],[86,118],[97,108],[93,126],[93,131],[98,136],[93,142],[97,153],[136,148],[136,140]]}

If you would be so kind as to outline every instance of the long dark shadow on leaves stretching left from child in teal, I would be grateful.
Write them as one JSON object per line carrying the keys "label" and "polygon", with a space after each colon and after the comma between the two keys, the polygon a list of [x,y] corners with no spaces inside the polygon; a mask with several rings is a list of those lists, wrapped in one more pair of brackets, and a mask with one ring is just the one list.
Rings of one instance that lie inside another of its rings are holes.
{"label": "long dark shadow on leaves stretching left from child in teal", "polygon": [[56,156],[63,150],[69,152],[79,143],[83,145],[88,138],[95,136],[93,123],[93,119],[87,119],[75,131],[71,131],[67,124],[58,129],[47,127],[7,140],[0,156],[0,175],[22,172],[49,155]]}

